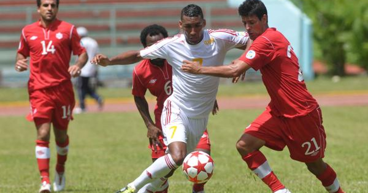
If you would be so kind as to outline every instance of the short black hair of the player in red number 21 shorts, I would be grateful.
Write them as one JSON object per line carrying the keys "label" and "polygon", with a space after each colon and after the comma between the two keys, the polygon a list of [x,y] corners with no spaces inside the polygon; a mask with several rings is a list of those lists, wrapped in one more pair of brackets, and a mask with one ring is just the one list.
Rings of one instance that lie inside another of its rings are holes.
{"label": "short black hair of the player in red number 21 shorts", "polygon": [[259,20],[262,19],[264,14],[267,15],[267,9],[265,4],[260,0],[245,0],[238,8],[240,16],[252,16],[256,15]]}

